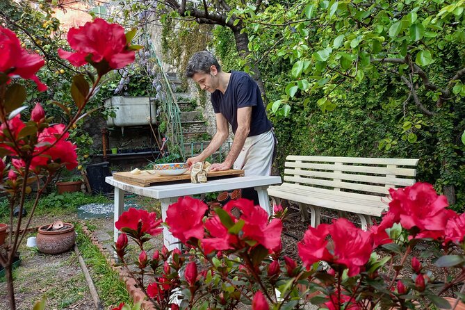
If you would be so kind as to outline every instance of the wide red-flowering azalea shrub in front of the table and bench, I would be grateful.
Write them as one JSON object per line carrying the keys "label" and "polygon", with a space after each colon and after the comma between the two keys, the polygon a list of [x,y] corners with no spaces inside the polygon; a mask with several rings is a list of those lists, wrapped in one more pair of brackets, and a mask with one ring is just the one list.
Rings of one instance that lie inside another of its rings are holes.
{"label": "wide red-flowering azalea shrub in front of the table and bench", "polygon": [[[160,234],[161,222],[130,209],[115,223],[124,231],[115,251],[129,270],[128,237],[136,241],[132,274],[156,309],[304,309],[309,302],[327,309],[449,308],[441,297],[446,291],[464,297],[463,288],[455,290],[465,279],[465,215],[447,209],[446,198],[428,183],[390,193],[389,211],[368,231],[344,218],[309,227],[297,244],[300,261],[282,253],[286,211],[275,206],[268,218],[246,199],[207,215],[206,205],[190,197],[170,205],[165,224],[182,252],[150,250],[147,234]],[[408,259],[418,244],[430,247],[443,279],[421,258]]]}

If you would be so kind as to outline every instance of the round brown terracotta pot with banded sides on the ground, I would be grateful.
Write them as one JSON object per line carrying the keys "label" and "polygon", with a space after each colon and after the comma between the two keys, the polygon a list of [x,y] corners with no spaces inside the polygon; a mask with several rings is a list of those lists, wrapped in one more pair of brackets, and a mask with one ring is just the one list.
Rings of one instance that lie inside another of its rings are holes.
{"label": "round brown terracotta pot with banded sides on the ground", "polygon": [[45,254],[59,254],[70,250],[76,240],[74,225],[63,223],[63,229],[47,230],[50,225],[39,228],[35,241],[40,252]]}

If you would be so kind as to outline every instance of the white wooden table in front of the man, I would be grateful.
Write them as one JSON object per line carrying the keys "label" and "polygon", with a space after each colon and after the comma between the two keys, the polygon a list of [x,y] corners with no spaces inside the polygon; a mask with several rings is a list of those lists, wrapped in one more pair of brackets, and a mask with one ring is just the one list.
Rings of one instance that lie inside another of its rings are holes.
{"label": "white wooden table in front of the man", "polygon": [[[224,179],[209,180],[206,183],[169,183],[158,186],[140,187],[116,181],[113,177],[106,177],[106,183],[115,187],[115,220],[116,222],[123,211],[124,192],[134,193],[146,197],[161,200],[161,216],[163,221],[166,219],[168,206],[177,202],[179,197],[198,195],[225,190],[235,190],[236,188],[254,188],[259,195],[260,206],[271,214],[270,200],[268,198],[267,188],[273,184],[281,183],[281,177],[275,176],[257,176],[257,177],[230,177]],[[114,240],[116,242],[119,233],[114,229]],[[174,238],[170,231],[163,227],[163,243],[168,250],[180,247],[178,239]]]}

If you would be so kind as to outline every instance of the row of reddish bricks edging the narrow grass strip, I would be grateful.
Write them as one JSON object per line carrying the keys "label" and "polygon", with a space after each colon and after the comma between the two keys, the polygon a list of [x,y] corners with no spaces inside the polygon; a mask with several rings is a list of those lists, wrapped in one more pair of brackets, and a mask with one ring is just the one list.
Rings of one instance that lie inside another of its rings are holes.
{"label": "row of reddish bricks edging the narrow grass strip", "polygon": [[156,310],[154,305],[151,302],[149,302],[149,300],[146,300],[145,293],[137,286],[136,279],[134,279],[129,274],[129,272],[123,270],[121,266],[116,266],[115,259],[113,259],[113,257],[110,254],[108,254],[108,252],[106,252],[106,250],[101,245],[97,237],[94,235],[92,231],[88,229],[84,222],[81,222],[81,227],[84,234],[88,236],[88,238],[90,238],[92,244],[94,244],[97,247],[97,249],[99,249],[100,253],[105,257],[108,265],[110,265],[111,268],[115,272],[117,272],[117,274],[120,277],[120,280],[126,284],[126,289],[129,293],[129,296],[131,296],[133,302],[142,302],[141,307],[144,310]]}

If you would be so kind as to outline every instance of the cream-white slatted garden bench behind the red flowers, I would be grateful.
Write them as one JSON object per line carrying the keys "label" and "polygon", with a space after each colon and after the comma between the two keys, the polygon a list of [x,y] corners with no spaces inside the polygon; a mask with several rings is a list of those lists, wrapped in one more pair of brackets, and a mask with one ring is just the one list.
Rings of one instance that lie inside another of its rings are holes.
{"label": "cream-white slatted garden bench behind the red flowers", "polygon": [[415,183],[418,159],[357,158],[332,156],[286,157],[284,182],[270,186],[268,195],[273,204],[281,199],[297,202],[302,220],[311,226],[320,224],[321,209],[355,213],[362,229],[372,223],[372,216],[386,211],[389,188],[411,186]]}

